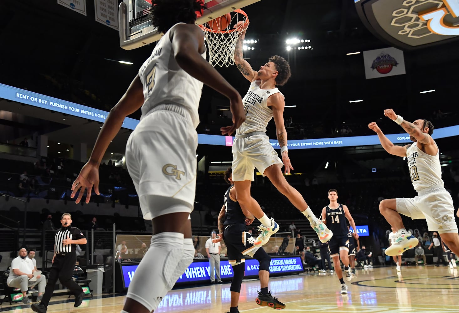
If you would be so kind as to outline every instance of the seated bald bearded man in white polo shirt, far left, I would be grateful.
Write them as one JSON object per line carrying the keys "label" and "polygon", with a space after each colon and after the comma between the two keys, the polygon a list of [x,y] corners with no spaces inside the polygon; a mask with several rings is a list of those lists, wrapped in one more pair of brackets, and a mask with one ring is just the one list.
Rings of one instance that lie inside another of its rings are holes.
{"label": "seated bald bearded man in white polo shirt, far left", "polygon": [[11,261],[10,275],[6,280],[6,284],[12,288],[21,288],[21,292],[23,294],[22,302],[25,304],[31,302],[27,296],[29,286],[38,284],[38,302],[41,301],[43,292],[45,292],[45,276],[38,275],[36,281],[29,281],[29,279],[34,277],[34,272],[34,263],[32,263],[32,260],[27,257],[27,250],[22,248],[19,250],[19,256]]}

